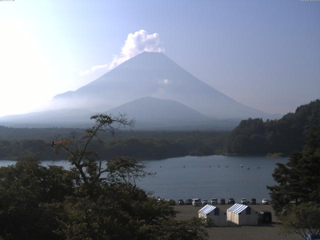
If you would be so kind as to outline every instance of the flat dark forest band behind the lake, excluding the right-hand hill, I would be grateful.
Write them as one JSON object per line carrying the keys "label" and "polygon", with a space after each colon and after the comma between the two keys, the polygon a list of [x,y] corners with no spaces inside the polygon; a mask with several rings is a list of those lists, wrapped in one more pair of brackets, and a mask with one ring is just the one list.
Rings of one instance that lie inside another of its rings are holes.
{"label": "flat dark forest band behind the lake, excluding the right-hand hill", "polygon": [[[32,130],[35,133],[32,135]],[[70,128],[17,128],[0,127],[0,159],[21,159],[26,155],[39,159],[66,159],[65,152],[53,154],[51,141],[68,137],[70,132],[84,135],[84,129]],[[43,131],[42,137],[41,131]],[[4,134],[2,134],[2,132]],[[17,139],[4,140],[3,135],[16,134]],[[101,159],[124,155],[138,159],[160,159],[184,155],[211,155],[225,151],[224,131],[121,131],[114,137],[101,134],[99,140],[90,142],[90,148],[99,152]],[[25,139],[23,139],[26,137]]]}

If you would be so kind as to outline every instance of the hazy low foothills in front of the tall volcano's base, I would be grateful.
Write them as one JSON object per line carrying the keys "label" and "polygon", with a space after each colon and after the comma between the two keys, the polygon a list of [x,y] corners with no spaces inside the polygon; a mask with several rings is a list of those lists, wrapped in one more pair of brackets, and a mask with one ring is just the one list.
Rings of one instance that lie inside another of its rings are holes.
{"label": "hazy low foothills in front of the tall volcano's base", "polygon": [[[93,111],[94,108],[104,109]],[[105,111],[105,106],[87,109],[56,109],[50,111],[32,112],[0,117],[0,124],[14,127],[88,127],[93,124],[90,116],[97,112],[107,112],[117,115],[125,113],[128,118],[135,119],[136,129],[180,129],[230,130],[240,119],[213,119],[177,101],[142,97],[113,109]]]}

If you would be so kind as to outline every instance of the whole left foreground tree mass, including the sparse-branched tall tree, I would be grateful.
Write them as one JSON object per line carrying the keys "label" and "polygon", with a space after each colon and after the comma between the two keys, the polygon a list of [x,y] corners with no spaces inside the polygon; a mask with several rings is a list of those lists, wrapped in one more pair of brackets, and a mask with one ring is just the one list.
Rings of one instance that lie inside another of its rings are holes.
{"label": "whole left foreground tree mass, including the sparse-branched tall tree", "polygon": [[167,202],[147,196],[135,180],[149,173],[132,158],[102,165],[89,148],[98,133],[130,124],[123,116],[96,115],[86,134],[72,132],[51,146],[69,155],[70,170],[33,158],[0,168],[0,238],[205,239],[204,222],[176,221]]}

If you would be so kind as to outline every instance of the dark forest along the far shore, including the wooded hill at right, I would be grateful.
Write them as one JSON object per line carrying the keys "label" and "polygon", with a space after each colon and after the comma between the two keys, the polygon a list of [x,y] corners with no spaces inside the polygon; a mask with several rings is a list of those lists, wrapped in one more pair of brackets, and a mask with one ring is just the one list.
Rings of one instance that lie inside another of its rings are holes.
{"label": "dark forest along the far shore, including the wooded hill at right", "polygon": [[[265,155],[287,156],[301,150],[304,137],[312,127],[320,126],[320,100],[296,108],[281,119],[249,118],[231,132],[226,131],[136,131],[121,130],[114,136],[102,133],[90,148],[101,159],[124,155],[138,159],[161,159],[184,155]],[[21,159],[26,155],[39,159],[66,159],[64,152],[53,154],[51,141],[76,133],[82,128],[12,128],[0,126],[0,159]]]}

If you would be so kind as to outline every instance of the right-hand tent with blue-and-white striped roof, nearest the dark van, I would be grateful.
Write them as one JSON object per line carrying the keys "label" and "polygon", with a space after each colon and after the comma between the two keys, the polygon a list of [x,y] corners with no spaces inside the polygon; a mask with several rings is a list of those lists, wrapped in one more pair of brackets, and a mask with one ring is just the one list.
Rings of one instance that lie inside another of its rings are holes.
{"label": "right-hand tent with blue-and-white striped roof, nearest the dark van", "polygon": [[258,213],[248,205],[235,203],[226,210],[226,219],[238,225],[257,225]]}

